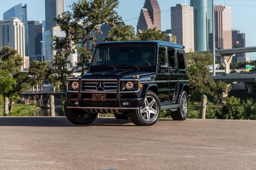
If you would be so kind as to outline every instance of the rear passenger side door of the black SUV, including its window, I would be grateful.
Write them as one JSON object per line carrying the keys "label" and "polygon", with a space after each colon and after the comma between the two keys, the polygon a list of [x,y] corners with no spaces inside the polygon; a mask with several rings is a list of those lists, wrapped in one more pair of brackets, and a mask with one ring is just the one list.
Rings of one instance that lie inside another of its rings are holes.
{"label": "rear passenger side door of the black SUV, including its window", "polygon": [[178,84],[179,81],[179,74],[178,74],[178,66],[176,60],[176,49],[172,47],[167,47],[167,54],[168,54],[168,63],[169,63],[169,96],[170,100],[174,101],[174,91],[175,86]]}

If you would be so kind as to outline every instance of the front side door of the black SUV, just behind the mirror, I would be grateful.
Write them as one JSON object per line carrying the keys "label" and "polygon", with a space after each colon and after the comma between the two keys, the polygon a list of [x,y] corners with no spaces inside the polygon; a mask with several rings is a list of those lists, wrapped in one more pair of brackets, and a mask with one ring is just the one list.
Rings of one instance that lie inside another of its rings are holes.
{"label": "front side door of the black SUV, just behind the mirror", "polygon": [[[166,57],[167,51],[166,47],[159,46],[158,47],[158,64],[162,62],[167,63],[167,57]],[[156,81],[158,85],[158,97],[160,99],[160,102],[167,102],[170,101],[169,96],[169,72],[160,70],[158,67],[158,73],[156,75]]]}

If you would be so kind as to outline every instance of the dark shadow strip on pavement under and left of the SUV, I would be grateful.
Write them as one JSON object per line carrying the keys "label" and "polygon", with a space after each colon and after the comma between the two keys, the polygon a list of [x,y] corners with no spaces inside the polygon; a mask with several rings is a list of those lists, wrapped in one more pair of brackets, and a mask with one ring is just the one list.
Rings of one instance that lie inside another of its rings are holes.
{"label": "dark shadow strip on pavement under and left of the SUV", "polygon": [[90,125],[74,125],[66,117],[0,117],[0,127],[90,127],[90,126],[135,126],[130,120],[97,118]]}

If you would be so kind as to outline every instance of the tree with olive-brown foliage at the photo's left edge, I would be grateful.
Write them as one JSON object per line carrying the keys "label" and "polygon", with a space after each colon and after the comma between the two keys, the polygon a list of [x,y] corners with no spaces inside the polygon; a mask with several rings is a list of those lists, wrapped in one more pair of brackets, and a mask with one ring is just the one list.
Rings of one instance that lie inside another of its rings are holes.
{"label": "tree with olive-brown foliage at the photo's left edge", "polygon": [[8,70],[9,74],[15,79],[12,90],[3,95],[9,97],[10,107],[12,111],[12,102],[18,99],[18,95],[30,87],[30,77],[28,73],[20,72],[22,67],[22,57],[17,51],[11,47],[5,46],[0,51],[0,69]]}

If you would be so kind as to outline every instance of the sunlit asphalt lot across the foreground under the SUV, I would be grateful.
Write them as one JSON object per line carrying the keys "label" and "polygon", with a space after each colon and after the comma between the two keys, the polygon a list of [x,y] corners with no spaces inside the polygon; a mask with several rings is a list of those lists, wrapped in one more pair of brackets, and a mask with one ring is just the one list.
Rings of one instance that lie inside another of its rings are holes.
{"label": "sunlit asphalt lot across the foreground under the SUV", "polygon": [[256,169],[256,121],[0,117],[0,169]]}

